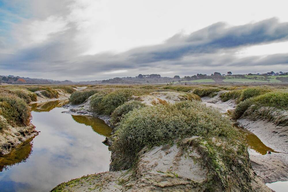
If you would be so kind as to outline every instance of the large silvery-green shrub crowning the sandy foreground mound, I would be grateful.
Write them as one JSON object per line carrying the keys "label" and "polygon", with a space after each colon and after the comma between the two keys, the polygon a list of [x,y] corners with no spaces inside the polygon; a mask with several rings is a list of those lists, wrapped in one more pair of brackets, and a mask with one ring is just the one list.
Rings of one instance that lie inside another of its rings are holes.
{"label": "large silvery-green shrub crowning the sandy foreground mound", "polygon": [[233,142],[239,133],[217,110],[200,101],[182,101],[128,112],[120,121],[115,135],[110,147],[113,153],[111,166],[119,170],[129,168],[144,146],[165,144],[193,135],[221,137]]}

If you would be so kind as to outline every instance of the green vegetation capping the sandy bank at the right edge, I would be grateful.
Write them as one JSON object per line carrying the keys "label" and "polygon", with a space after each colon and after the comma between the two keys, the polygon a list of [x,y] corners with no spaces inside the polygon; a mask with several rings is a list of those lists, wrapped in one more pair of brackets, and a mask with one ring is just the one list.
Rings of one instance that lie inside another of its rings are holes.
{"label": "green vegetation capping the sandy bank at the right edge", "polygon": [[[240,118],[245,113],[245,111],[252,105],[253,105],[252,111],[255,111],[263,106],[274,107],[281,110],[287,110],[288,92],[281,92],[281,91],[270,92],[241,101],[235,108],[234,119]],[[252,111],[250,110],[249,114],[252,115]]]}

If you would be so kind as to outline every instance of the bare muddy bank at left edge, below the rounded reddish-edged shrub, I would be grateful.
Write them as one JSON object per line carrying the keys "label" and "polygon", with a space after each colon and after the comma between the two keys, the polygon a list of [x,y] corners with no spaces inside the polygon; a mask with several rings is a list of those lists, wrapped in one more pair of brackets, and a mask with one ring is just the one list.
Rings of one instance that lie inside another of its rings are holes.
{"label": "bare muddy bank at left edge, below the rounded reddish-edged shrub", "polygon": [[[0,118],[3,118],[0,116]],[[0,132],[0,156],[10,153],[22,142],[38,135],[34,125],[27,127],[12,127],[8,125],[7,129]]]}

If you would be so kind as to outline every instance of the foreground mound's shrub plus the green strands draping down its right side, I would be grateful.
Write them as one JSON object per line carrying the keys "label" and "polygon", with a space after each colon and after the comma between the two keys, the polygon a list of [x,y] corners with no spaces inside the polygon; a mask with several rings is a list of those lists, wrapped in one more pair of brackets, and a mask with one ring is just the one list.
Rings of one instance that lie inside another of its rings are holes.
{"label": "foreground mound's shrub plus the green strands draping down its right side", "polygon": [[[244,139],[227,117],[200,101],[146,106],[125,114],[115,127],[112,170],[137,164],[146,147],[176,142],[183,150],[193,145],[209,168],[208,191],[251,191],[251,165]],[[199,136],[197,140],[189,139]],[[183,142],[185,141],[185,142]]]}

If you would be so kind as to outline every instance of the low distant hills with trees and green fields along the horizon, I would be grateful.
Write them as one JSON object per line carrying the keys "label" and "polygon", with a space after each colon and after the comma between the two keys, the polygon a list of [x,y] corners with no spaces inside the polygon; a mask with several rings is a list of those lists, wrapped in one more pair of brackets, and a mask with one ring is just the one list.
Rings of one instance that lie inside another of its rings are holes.
{"label": "low distant hills with trees and green fields along the horizon", "polygon": [[0,76],[0,83],[8,84],[211,84],[211,83],[287,83],[288,73],[274,73],[273,71],[266,74],[247,74],[247,75],[228,75],[215,72],[211,75],[197,74],[193,76],[175,75],[172,77],[161,77],[159,74],[142,75],[135,77],[115,77],[107,80],[95,81],[56,81],[51,79],[37,79],[19,76]]}

